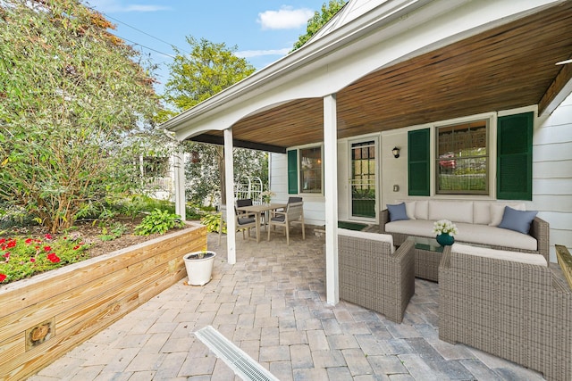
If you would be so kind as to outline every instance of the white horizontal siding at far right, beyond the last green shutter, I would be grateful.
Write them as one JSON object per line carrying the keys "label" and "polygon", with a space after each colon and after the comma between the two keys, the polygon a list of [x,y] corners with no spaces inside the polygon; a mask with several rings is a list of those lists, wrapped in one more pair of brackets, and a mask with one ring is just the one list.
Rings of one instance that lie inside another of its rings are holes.
{"label": "white horizontal siding at far right, beyond the last green shutter", "polygon": [[554,244],[572,247],[572,95],[548,117],[539,119],[533,140],[533,200],[551,224]]}

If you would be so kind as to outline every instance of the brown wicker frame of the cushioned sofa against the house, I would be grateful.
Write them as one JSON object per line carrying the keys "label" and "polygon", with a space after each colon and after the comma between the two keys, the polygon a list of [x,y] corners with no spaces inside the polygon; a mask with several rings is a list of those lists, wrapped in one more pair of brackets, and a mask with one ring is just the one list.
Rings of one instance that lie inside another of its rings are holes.
{"label": "brown wicker frame of the cushioned sofa against the house", "polygon": [[[384,209],[380,212],[380,222],[379,222],[379,229],[380,233],[383,234],[391,234],[393,236],[393,244],[399,246],[403,244],[406,239],[408,239],[408,234],[401,234],[401,233],[391,233],[385,231],[385,224],[390,222],[390,213],[387,209]],[[509,250],[511,252],[519,252],[519,253],[531,253],[531,254],[543,254],[546,261],[551,261],[551,253],[550,253],[550,224],[545,221],[544,219],[540,219],[535,217],[533,222],[530,225],[530,232],[529,235],[536,238],[536,243],[538,245],[538,250],[531,251],[525,249],[517,249],[516,247],[510,246],[498,246],[498,245],[491,245],[492,249],[497,250]],[[428,232],[430,233],[430,232]],[[427,235],[429,236],[429,234]],[[429,236],[430,237],[430,236]],[[471,243],[468,243],[471,244]],[[482,242],[480,244],[487,244],[486,242]]]}

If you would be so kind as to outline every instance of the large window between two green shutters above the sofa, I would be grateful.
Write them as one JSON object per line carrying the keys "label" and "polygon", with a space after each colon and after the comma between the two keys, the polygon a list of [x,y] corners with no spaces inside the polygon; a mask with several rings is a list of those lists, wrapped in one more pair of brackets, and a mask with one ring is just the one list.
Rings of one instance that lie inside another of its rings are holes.
{"label": "large window between two green shutters above the sofa", "polygon": [[436,128],[437,194],[488,195],[488,120]]}

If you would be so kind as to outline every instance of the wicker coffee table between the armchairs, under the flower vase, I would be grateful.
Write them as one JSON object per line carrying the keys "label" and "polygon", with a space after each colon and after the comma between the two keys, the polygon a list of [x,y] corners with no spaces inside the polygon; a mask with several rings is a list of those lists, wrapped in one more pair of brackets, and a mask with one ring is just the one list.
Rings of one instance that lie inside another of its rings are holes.
{"label": "wicker coffee table between the armchairs, under the flower vase", "polygon": [[414,242],[415,276],[433,282],[439,281],[439,262],[443,253],[443,246],[434,238],[423,236],[409,236],[408,240]]}

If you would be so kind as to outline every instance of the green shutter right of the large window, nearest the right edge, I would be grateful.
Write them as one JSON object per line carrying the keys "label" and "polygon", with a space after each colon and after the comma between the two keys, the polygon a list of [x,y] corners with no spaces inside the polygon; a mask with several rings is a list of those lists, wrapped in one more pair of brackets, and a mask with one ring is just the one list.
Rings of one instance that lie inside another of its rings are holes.
{"label": "green shutter right of the large window, nearest the right edge", "polygon": [[497,198],[532,200],[534,113],[504,116],[497,124]]}

